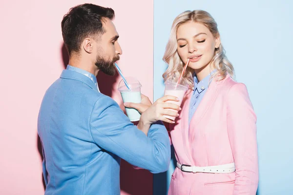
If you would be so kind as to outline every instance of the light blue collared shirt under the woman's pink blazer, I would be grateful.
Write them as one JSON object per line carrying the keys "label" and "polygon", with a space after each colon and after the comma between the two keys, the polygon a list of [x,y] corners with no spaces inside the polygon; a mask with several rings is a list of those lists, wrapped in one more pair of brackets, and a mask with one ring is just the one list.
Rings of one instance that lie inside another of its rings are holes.
{"label": "light blue collared shirt under the woman's pink blazer", "polygon": [[208,90],[210,75],[213,74],[215,71],[216,70],[213,70],[211,73],[209,73],[207,77],[202,79],[200,82],[198,82],[196,75],[193,76],[194,91],[189,103],[188,125],[190,124],[192,116],[194,115],[197,107],[199,106],[201,100],[204,98]]}

